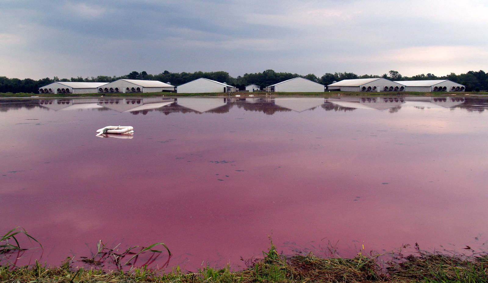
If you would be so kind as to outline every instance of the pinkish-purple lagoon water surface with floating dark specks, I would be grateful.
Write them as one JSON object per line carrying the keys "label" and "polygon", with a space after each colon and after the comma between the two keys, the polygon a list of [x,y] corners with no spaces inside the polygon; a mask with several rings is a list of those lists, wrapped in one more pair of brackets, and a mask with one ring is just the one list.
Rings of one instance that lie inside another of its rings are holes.
{"label": "pinkish-purple lagoon water surface with floating dark specks", "polygon": [[[58,265],[102,240],[164,242],[169,265],[239,268],[274,244],[344,256],[479,251],[488,241],[488,99],[0,101],[0,231]],[[96,137],[106,125],[133,136]],[[203,263],[204,262],[204,263]]]}

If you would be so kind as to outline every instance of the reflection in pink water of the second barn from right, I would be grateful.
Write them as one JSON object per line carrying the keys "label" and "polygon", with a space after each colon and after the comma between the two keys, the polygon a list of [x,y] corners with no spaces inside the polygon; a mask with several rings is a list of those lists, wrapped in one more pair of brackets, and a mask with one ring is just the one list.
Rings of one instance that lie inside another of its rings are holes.
{"label": "reflection in pink water of the second barn from right", "polygon": [[362,97],[362,98],[328,98],[325,101],[342,107],[392,110],[401,107],[405,103],[403,97]]}

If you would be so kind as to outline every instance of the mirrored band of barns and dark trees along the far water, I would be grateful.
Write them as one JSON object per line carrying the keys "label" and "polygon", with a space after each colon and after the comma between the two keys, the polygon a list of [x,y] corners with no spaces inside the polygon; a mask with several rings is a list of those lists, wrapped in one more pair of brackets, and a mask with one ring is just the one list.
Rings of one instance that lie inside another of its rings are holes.
{"label": "mirrored band of barns and dark trees along the far water", "polygon": [[179,98],[81,98],[0,100],[0,111],[41,107],[54,111],[113,110],[120,113],[147,114],[156,110],[170,113],[227,113],[232,107],[246,111],[258,111],[267,115],[276,112],[304,112],[321,107],[325,111],[352,111],[355,109],[400,111],[402,107],[417,109],[461,108],[482,112],[488,107],[484,98],[464,97],[179,97]]}

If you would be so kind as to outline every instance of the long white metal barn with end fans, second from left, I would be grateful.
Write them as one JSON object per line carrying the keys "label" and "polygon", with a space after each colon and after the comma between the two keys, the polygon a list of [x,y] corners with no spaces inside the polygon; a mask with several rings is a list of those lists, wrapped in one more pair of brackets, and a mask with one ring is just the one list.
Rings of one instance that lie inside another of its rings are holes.
{"label": "long white metal barn with end fans, second from left", "polygon": [[101,88],[98,88],[98,92],[162,92],[162,91],[174,91],[175,87],[169,84],[165,84],[160,81],[144,81],[144,80],[128,80],[120,79],[115,82],[108,83]]}

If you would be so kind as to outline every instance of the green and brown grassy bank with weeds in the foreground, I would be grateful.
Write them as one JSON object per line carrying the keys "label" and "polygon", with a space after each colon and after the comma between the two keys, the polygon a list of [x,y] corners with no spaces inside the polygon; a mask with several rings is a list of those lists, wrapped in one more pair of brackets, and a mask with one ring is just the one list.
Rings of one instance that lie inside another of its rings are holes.
{"label": "green and brown grassy bank with weeds in the foreground", "polygon": [[[10,230],[0,237],[1,256],[20,250],[16,237],[26,235],[20,228]],[[35,241],[32,237],[32,240]],[[10,243],[8,242],[10,240]],[[37,241],[36,241],[37,242]],[[162,244],[154,244],[141,251],[161,253],[152,250],[157,245],[163,245],[169,254],[170,251]],[[122,259],[132,256],[127,263],[142,252],[116,253],[116,249],[107,249],[99,243],[99,252],[92,258],[84,258],[84,263],[100,263],[100,259],[116,261],[122,267]],[[41,248],[41,247],[40,247]],[[69,258],[59,267],[33,266],[16,267],[13,265],[0,266],[0,283],[73,283],[73,282],[158,282],[158,283],[254,283],[254,282],[425,282],[425,283],[487,283],[488,254],[478,254],[476,257],[462,257],[440,253],[422,252],[416,245],[417,255],[404,257],[400,252],[383,255],[370,255],[359,252],[354,258],[343,259],[338,257],[321,258],[312,253],[307,255],[285,256],[280,254],[271,241],[271,247],[263,252],[263,257],[247,262],[244,270],[233,271],[230,267],[215,269],[205,267],[197,272],[183,272],[179,267],[171,270],[151,270],[148,268],[131,268],[122,271],[103,271],[100,268],[73,267],[74,261]],[[335,253],[335,252],[334,252]],[[390,261],[384,261],[386,256]],[[383,259],[383,260],[382,260]],[[0,261],[1,262],[1,261]],[[96,266],[96,265],[94,265]]]}

